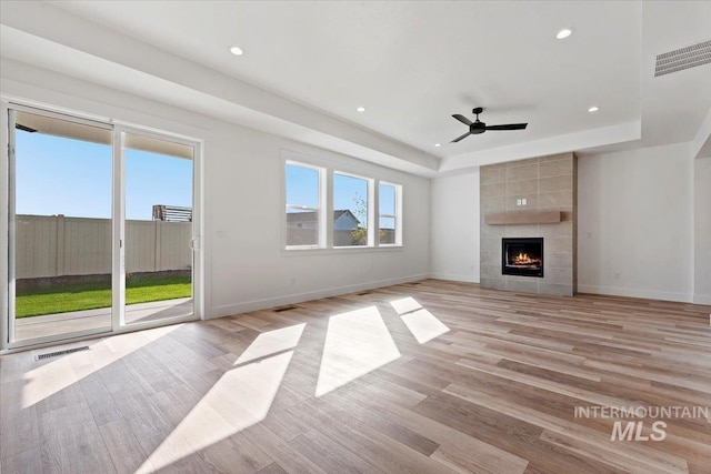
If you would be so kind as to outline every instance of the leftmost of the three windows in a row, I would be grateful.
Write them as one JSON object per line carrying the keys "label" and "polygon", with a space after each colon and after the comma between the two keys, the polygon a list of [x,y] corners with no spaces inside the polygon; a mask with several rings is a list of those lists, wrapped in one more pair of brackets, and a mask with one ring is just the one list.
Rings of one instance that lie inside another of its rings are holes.
{"label": "leftmost of the three windows in a row", "polygon": [[322,246],[321,170],[287,162],[287,246]]}

